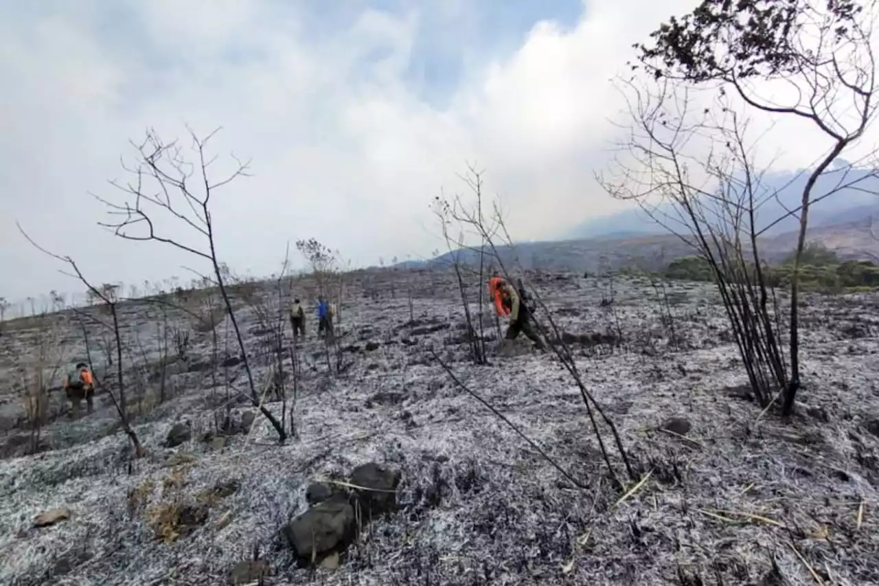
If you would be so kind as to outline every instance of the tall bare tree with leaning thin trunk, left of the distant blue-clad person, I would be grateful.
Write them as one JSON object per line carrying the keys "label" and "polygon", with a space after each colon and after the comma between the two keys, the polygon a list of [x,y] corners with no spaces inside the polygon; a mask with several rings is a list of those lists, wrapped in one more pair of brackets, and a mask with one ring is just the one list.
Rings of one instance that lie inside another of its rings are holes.
{"label": "tall bare tree with leaning thin trunk, left of the distant blue-clad person", "polygon": [[[185,157],[184,149],[178,141],[165,143],[155,131],[149,130],[141,143],[132,142],[136,153],[136,163],[134,165],[122,163],[123,169],[130,174],[131,179],[125,183],[117,180],[111,181],[111,184],[117,187],[121,194],[131,199],[127,199],[123,203],[115,203],[97,195],[94,197],[107,206],[109,216],[113,218],[108,222],[100,223],[100,225],[111,229],[120,238],[160,242],[191,253],[210,263],[223,304],[229,315],[229,321],[235,332],[238,347],[241,349],[244,371],[247,374],[251,392],[251,402],[272,424],[278,433],[280,442],[283,442],[286,437],[283,426],[272,412],[260,402],[243,334],[226,287],[222,263],[216,252],[211,198],[217,190],[228,186],[235,179],[249,176],[249,164],[233,155],[236,168],[222,179],[215,181],[211,179],[208,167],[214,164],[216,157],[208,158],[207,143],[218,131],[219,128],[202,138],[190,130],[191,152],[195,159],[193,164]],[[163,216],[164,221],[177,222],[199,235],[204,243],[203,246],[188,245],[178,239],[158,233],[154,222],[156,214]]]}

